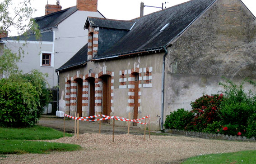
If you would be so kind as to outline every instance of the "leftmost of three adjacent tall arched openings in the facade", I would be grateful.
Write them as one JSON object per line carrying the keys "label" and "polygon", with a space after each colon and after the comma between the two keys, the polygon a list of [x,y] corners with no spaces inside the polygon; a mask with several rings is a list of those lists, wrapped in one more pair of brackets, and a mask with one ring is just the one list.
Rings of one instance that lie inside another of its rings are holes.
{"label": "leftmost of three adjacent tall arched openings in the facade", "polygon": [[76,88],[76,114],[79,114],[79,117],[82,116],[82,102],[83,102],[83,79],[75,79],[77,83]]}

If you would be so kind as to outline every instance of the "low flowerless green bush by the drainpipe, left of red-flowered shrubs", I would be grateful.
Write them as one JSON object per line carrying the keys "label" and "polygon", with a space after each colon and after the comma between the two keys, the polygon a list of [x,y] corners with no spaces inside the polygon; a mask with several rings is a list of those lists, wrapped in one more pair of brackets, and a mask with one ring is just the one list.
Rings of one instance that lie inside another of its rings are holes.
{"label": "low flowerless green bush by the drainpipe, left of red-flowered shrubs", "polygon": [[191,122],[194,115],[192,112],[185,111],[183,108],[177,111],[170,112],[170,115],[166,116],[164,127],[166,129],[179,129],[184,130],[186,125]]}

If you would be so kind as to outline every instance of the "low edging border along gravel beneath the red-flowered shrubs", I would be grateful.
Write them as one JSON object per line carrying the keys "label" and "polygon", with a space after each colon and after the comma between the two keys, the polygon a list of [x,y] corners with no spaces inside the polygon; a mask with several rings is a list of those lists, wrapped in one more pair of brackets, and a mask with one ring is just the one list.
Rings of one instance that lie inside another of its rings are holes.
{"label": "low edging border along gravel beneath the red-flowered shrubs", "polygon": [[185,136],[193,136],[193,137],[200,137],[205,139],[221,139],[221,140],[229,140],[229,141],[253,141],[255,142],[255,137],[247,138],[245,136],[228,136],[224,134],[215,134],[215,133],[203,133],[203,132],[193,132],[193,131],[186,131],[186,130],[177,130],[177,129],[165,129],[165,133],[172,133],[172,134],[181,134]]}

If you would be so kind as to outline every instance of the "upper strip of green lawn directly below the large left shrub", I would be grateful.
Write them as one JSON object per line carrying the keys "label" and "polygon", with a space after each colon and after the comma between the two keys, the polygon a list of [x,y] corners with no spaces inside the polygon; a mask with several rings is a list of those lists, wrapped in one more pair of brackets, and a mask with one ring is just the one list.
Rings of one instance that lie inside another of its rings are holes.
{"label": "upper strip of green lawn directly below the large left shrub", "polygon": [[[73,136],[65,133],[66,137]],[[5,140],[51,140],[63,137],[63,132],[35,125],[31,128],[0,128],[0,139]]]}

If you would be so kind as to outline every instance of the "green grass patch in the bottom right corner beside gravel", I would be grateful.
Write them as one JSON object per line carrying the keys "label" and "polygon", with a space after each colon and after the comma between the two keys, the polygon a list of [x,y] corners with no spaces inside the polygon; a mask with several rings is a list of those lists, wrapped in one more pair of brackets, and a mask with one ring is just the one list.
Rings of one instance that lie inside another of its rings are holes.
{"label": "green grass patch in the bottom right corner beside gravel", "polygon": [[256,151],[198,155],[182,164],[256,164]]}

